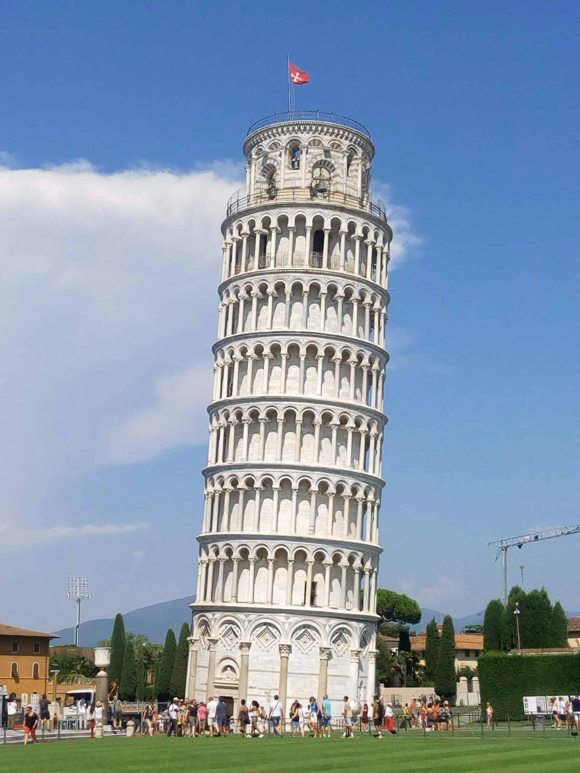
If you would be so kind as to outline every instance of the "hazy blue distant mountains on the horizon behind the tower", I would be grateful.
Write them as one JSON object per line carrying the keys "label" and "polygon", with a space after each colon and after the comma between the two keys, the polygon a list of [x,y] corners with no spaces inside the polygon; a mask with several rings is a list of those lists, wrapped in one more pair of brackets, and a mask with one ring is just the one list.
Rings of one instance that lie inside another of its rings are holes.
{"label": "hazy blue distant mountains on the horizon behind the tower", "polygon": [[[176,598],[173,601],[162,601],[160,604],[152,604],[150,607],[134,609],[123,615],[125,621],[125,630],[133,633],[145,633],[150,642],[162,644],[165,642],[165,634],[168,628],[173,628],[176,636],[179,635],[179,629],[183,622],[191,620],[191,611],[189,604],[196,600],[195,596],[186,596],[185,598]],[[567,612],[568,617],[580,617],[580,612]],[[411,631],[425,631],[425,625],[432,618],[441,623],[445,613],[438,612],[435,609],[421,608],[421,622],[417,625],[411,625]],[[83,647],[96,647],[102,638],[111,638],[114,618],[103,618],[101,620],[88,620],[80,624],[79,643]],[[465,618],[453,618],[455,631],[461,631],[466,625],[483,625],[483,610],[474,612],[473,615],[467,615]],[[74,641],[74,628],[63,628],[62,631],[55,631],[60,635],[60,642],[53,644],[69,644]]]}

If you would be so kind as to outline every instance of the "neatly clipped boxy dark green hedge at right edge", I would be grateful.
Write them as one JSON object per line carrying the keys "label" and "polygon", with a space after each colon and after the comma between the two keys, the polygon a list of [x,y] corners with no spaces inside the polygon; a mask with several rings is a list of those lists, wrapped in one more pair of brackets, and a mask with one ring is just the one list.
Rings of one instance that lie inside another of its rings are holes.
{"label": "neatly clipped boxy dark green hedge at right edge", "polygon": [[510,655],[484,652],[479,657],[482,706],[490,701],[495,719],[520,717],[524,695],[580,694],[580,653]]}

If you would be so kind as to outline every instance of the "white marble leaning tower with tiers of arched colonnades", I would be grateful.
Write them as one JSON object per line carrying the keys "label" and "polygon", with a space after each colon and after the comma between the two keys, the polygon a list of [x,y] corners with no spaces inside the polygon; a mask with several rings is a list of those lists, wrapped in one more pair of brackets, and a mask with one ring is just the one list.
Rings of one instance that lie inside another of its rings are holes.
{"label": "white marble leaning tower with tiers of arched colonnades", "polygon": [[[186,694],[374,691],[392,231],[357,121],[244,140],[223,269]],[[288,716],[288,715],[286,715]]]}

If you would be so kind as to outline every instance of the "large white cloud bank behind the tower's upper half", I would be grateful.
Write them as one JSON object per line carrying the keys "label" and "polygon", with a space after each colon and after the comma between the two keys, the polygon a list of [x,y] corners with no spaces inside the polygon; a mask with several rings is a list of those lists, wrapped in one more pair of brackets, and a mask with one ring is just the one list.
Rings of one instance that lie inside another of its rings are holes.
{"label": "large white cloud bank behind the tower's upper half", "polygon": [[[206,443],[220,223],[244,169],[0,164],[0,512],[41,528],[84,472]],[[418,240],[389,195],[400,261]]]}

